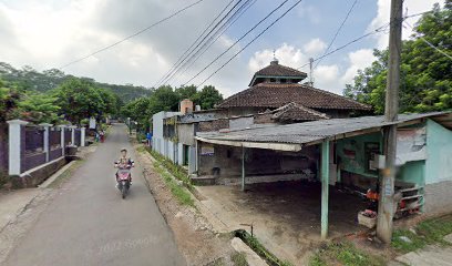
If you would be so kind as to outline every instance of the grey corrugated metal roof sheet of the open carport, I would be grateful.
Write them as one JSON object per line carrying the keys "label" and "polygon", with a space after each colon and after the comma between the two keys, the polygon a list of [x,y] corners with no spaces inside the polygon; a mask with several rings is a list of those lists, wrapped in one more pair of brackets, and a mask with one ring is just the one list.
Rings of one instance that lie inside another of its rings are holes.
{"label": "grey corrugated metal roof sheet of the open carport", "polygon": [[452,116],[451,112],[434,112],[423,114],[400,114],[397,122],[386,122],[384,116],[361,116],[352,119],[331,119],[305,122],[288,125],[265,126],[227,133],[198,133],[204,140],[227,142],[257,142],[257,143],[286,143],[286,144],[314,144],[325,139],[345,137],[345,134],[380,130],[384,125],[401,124],[410,121],[432,117]]}

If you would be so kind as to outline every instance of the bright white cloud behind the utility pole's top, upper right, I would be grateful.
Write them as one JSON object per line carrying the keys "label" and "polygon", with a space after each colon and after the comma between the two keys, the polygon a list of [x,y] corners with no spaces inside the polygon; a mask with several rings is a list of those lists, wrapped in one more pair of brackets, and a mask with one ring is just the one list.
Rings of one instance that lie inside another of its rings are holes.
{"label": "bright white cloud behind the utility pole's top, upper right", "polygon": [[[438,0],[405,0],[403,1],[403,14],[414,14],[420,12],[425,12],[432,9],[433,4],[439,2]],[[442,1],[440,1],[442,2]],[[378,11],[377,17],[368,25],[368,31],[373,31],[374,29],[387,24],[390,18],[391,1],[390,0],[378,0]],[[414,24],[420,17],[413,17],[407,19],[407,22]],[[402,29],[402,38],[408,39],[412,34],[411,28]],[[388,47],[389,34],[378,34],[377,38],[377,48],[384,49]]]}

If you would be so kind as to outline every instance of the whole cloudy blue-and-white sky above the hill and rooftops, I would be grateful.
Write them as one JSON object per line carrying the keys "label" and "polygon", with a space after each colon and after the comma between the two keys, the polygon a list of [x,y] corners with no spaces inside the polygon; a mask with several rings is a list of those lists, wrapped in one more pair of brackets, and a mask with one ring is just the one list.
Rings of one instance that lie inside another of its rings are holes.
{"label": "whole cloudy blue-and-white sky above the hill and rooftops", "polygon": [[[156,27],[81,62],[63,68],[68,74],[101,82],[146,88],[158,81],[192,45],[230,0],[204,0]],[[31,65],[43,71],[61,68],[115,43],[195,0],[0,0],[0,61],[16,68]],[[256,0],[254,4],[193,65],[167,84],[189,81],[217,55],[266,17],[282,0]],[[198,85],[257,37],[296,0],[239,41],[191,83]],[[248,45],[205,84],[224,96],[247,89],[253,74],[275,57],[295,69],[309,58],[321,57],[355,0],[302,0],[274,27]],[[429,11],[441,0],[404,0],[404,14]],[[357,0],[330,51],[389,22],[390,0]],[[419,18],[419,17],[418,17]],[[408,20],[415,23],[418,18]],[[403,29],[403,39],[411,35]],[[370,35],[326,57],[315,68],[315,86],[341,94],[359,69],[374,60],[373,49],[388,45],[388,31]],[[316,63],[315,63],[316,65]],[[300,69],[309,73],[309,66]],[[191,84],[188,83],[188,84]]]}

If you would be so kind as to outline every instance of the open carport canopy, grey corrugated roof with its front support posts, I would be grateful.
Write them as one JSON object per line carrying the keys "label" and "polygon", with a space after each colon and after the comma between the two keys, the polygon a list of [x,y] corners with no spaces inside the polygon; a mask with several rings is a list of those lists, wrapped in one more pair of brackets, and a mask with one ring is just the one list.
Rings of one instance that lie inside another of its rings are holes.
{"label": "open carport canopy, grey corrugated roof with its front support posts", "polygon": [[321,237],[325,239],[328,236],[330,141],[380,132],[387,125],[417,124],[425,119],[432,119],[452,130],[452,112],[434,112],[400,114],[396,122],[387,122],[381,115],[319,120],[288,125],[260,125],[259,127],[229,132],[199,132],[196,140],[242,147],[242,190],[245,190],[245,153],[247,147],[298,152],[302,146],[321,144]]}

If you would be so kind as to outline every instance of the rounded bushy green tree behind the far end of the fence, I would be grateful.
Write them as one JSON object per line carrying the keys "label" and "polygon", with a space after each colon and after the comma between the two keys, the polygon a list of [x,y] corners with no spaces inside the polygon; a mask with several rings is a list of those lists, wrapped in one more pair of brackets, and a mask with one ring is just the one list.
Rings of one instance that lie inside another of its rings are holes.
{"label": "rounded bushy green tree behind the far end of the fence", "polygon": [[86,117],[100,117],[105,111],[100,89],[79,79],[65,81],[56,89],[54,96],[61,108],[60,113],[74,124],[80,124]]}

